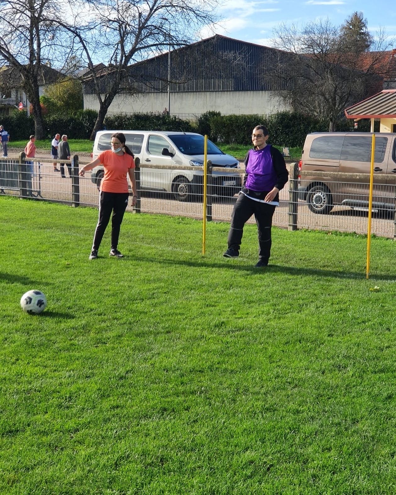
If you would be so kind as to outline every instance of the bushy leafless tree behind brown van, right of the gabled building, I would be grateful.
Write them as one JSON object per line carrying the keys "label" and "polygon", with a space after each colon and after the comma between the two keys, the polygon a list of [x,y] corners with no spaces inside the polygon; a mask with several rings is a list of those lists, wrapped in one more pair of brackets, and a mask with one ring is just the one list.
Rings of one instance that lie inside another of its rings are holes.
{"label": "bushy leafless tree behind brown van, right of the gabled building", "polygon": [[[373,47],[374,39],[367,40]],[[376,43],[382,48],[384,37]],[[356,43],[352,49],[340,28],[328,20],[310,22],[301,30],[282,24],[275,30],[274,45],[283,51],[274,63],[271,79],[289,88],[279,91],[279,96],[295,110],[327,120],[329,131],[334,130],[348,104],[382,89],[378,77],[381,50],[363,64],[366,45]]]}

